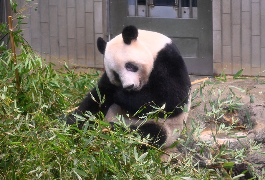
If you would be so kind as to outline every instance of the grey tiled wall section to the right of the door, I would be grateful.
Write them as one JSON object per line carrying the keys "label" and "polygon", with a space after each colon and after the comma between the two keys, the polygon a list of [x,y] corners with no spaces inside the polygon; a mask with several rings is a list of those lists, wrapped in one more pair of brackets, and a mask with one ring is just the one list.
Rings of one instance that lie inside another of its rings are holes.
{"label": "grey tiled wall section to the right of the door", "polygon": [[213,0],[213,72],[265,76],[265,1]]}

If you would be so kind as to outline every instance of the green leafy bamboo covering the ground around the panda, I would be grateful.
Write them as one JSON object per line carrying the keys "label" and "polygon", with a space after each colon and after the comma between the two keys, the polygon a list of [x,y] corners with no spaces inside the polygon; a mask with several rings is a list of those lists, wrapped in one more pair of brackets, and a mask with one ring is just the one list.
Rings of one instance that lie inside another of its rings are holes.
{"label": "green leafy bamboo covering the ground around the panda", "polygon": [[[16,3],[11,4],[16,9]],[[24,17],[18,16],[17,27]],[[6,24],[1,24],[1,36],[8,35]],[[180,156],[169,154],[167,161],[161,160],[164,154],[160,149],[149,147],[139,151],[147,139],[141,139],[135,131],[120,119],[122,128],[105,130],[108,123],[95,119],[99,126],[85,124],[83,130],[64,124],[64,117],[77,106],[100,77],[100,71],[77,73],[67,64],[59,70],[34,53],[32,47],[21,36],[22,30],[14,31],[19,49],[18,65],[14,66],[12,52],[7,42],[0,46],[0,179],[263,179],[256,173],[255,165],[245,162],[249,153],[260,152],[261,144],[251,142],[250,147],[231,150],[229,144],[215,149],[215,141],[200,140],[200,122],[191,118],[191,127],[185,126],[182,138],[174,146],[186,149]],[[15,69],[19,72],[20,90],[16,87]],[[233,80],[241,79],[239,71]],[[259,80],[258,76],[255,77]],[[240,97],[233,92],[224,94],[219,84],[228,79],[224,73],[216,81],[205,82],[195,89],[193,106],[204,106],[205,113],[198,119],[210,119],[217,131],[228,132],[236,125],[218,124],[218,119],[227,110],[236,111],[242,107]],[[262,83],[262,82],[261,82]],[[244,90],[241,87],[236,87]],[[249,93],[246,90],[246,93]],[[217,100],[213,97],[217,97]],[[254,97],[251,96],[253,100]],[[209,104],[206,106],[206,104]],[[163,109],[157,109],[160,111]],[[183,109],[185,111],[185,108]],[[155,112],[153,112],[155,113]],[[92,114],[87,114],[95,118]],[[93,126],[93,128],[89,128]],[[249,121],[251,126],[251,121]],[[124,132],[125,131],[125,132]],[[216,133],[215,133],[216,132]],[[240,137],[237,137],[240,141]],[[241,137],[246,138],[246,137]],[[195,145],[195,146],[191,146]],[[198,154],[208,150],[206,167],[194,161]],[[180,159],[176,161],[175,159]],[[246,171],[234,174],[234,167],[246,163]]]}

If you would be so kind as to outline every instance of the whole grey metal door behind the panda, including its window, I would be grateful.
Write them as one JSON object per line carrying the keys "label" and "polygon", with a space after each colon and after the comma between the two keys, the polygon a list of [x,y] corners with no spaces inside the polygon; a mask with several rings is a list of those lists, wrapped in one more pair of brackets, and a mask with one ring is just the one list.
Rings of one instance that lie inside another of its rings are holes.
{"label": "whole grey metal door behind the panda, including its window", "polygon": [[126,25],[160,32],[178,46],[189,74],[213,75],[211,0],[110,0],[111,38]]}

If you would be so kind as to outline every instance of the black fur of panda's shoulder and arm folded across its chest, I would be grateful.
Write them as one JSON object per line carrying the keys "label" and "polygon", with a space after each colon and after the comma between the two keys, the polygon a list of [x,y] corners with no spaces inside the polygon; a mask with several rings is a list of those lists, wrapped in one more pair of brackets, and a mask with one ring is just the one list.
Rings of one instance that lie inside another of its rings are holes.
{"label": "black fur of panda's shoulder and arm folded across its chest", "polygon": [[[190,88],[191,82],[185,63],[178,48],[171,43],[158,53],[148,83],[140,91],[117,88],[114,102],[132,114],[148,102],[154,102],[158,106],[166,104],[165,111],[173,112],[171,116],[177,116],[182,110],[176,106],[188,103]],[[152,107],[147,106],[142,113],[150,111]],[[160,114],[160,117],[163,116]]]}

